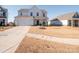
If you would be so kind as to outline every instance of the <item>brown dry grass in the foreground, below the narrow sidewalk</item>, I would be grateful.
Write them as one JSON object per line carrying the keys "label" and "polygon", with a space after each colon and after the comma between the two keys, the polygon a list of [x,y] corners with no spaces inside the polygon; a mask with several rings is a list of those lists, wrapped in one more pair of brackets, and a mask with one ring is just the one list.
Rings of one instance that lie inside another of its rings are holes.
{"label": "brown dry grass in the foreground, below the narrow sidewalk", "polygon": [[32,37],[25,37],[15,52],[16,53],[52,53],[52,52],[72,53],[72,52],[79,52],[79,46],[56,43],[56,42],[36,39]]}

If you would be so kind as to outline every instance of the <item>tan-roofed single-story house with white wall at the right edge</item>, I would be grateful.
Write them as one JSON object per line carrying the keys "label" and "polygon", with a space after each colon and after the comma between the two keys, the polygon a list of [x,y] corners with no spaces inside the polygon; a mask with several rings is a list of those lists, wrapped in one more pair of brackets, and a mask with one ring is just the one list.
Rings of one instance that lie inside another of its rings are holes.
{"label": "tan-roofed single-story house with white wall at the right edge", "polygon": [[[67,26],[79,26],[79,13],[78,12],[72,12],[67,13],[61,16],[56,17],[60,22],[62,22],[62,25]],[[51,22],[52,21],[52,22]],[[50,24],[54,23],[53,20],[51,20]],[[55,22],[56,24],[56,22]],[[57,22],[58,24],[58,22]]]}

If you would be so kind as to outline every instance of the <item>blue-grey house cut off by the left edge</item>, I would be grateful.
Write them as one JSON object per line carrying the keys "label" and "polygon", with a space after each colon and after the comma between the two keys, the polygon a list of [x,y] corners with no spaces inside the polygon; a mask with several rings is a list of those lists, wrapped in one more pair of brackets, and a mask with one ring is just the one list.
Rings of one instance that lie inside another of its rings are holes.
{"label": "blue-grey house cut off by the left edge", "polygon": [[8,10],[0,6],[0,26],[7,25],[8,23]]}

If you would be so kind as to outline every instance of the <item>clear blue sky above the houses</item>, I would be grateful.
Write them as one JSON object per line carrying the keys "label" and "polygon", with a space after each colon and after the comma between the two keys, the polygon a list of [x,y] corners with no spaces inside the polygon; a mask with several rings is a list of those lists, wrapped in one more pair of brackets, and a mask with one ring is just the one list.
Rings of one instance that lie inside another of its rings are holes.
{"label": "clear blue sky above the houses", "polygon": [[[15,16],[18,15],[19,9],[30,9],[32,6],[33,5],[3,5],[4,8],[8,9],[9,22],[14,21]],[[37,7],[47,11],[49,20],[65,13],[79,12],[79,5],[37,5]]]}

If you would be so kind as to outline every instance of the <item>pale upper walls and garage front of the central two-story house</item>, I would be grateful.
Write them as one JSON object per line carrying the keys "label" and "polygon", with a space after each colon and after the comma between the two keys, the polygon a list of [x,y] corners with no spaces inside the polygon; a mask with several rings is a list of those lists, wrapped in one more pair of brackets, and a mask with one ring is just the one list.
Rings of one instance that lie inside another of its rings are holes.
{"label": "pale upper walls and garage front of the central two-story house", "polygon": [[[31,16],[32,12],[32,18],[29,18]],[[33,25],[34,17],[37,17],[37,13],[39,13],[38,17],[43,17],[43,13],[45,14],[45,19],[47,19],[47,12],[45,10],[39,9],[36,6],[33,6],[31,9],[21,9],[18,11],[18,16],[15,17],[15,24],[16,25]],[[22,14],[22,15],[21,15]],[[22,17],[22,18],[21,18]],[[25,17],[25,18],[23,18]],[[47,20],[46,20],[47,21]],[[40,21],[40,22],[43,22]]]}

